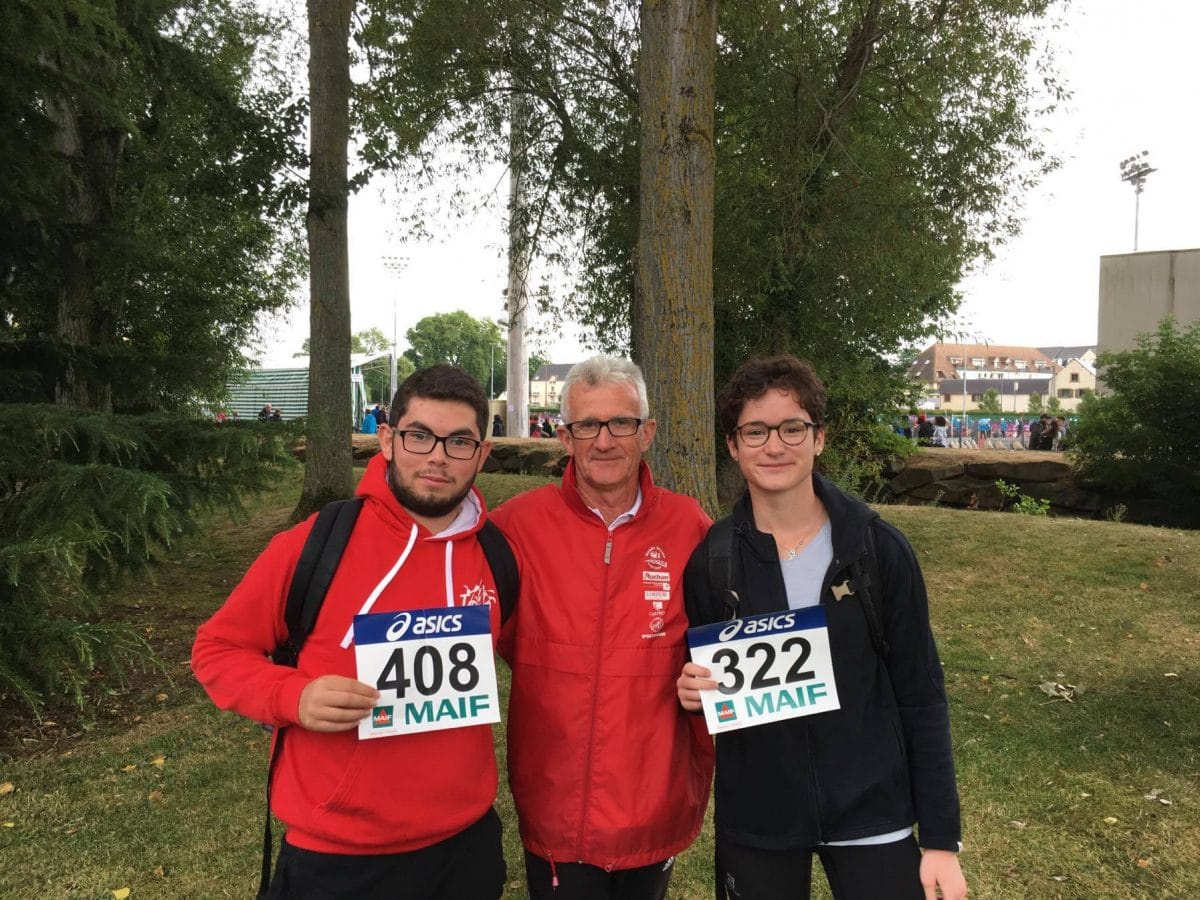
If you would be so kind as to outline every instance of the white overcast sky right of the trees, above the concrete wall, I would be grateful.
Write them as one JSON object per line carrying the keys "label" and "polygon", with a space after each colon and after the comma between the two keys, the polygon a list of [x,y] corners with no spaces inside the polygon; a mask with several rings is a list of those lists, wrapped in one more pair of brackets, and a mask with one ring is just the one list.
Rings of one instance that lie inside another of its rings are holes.
{"label": "white overcast sky right of the trees, above the concrete wall", "polygon": [[1024,233],[961,286],[961,319],[992,343],[1096,342],[1099,258],[1133,251],[1134,191],[1120,163],[1158,169],[1138,248],[1200,247],[1200,70],[1194,0],[1076,0],[1054,38],[1074,96],[1048,121],[1062,168],[1025,198]]}

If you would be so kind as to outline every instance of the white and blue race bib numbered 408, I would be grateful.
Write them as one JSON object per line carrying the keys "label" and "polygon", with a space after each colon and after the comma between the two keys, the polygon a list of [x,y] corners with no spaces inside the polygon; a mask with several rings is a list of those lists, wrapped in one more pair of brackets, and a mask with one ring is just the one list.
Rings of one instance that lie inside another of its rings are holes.
{"label": "white and blue race bib numbered 408", "polygon": [[490,611],[443,606],[355,616],[358,678],[382,695],[359,722],[359,739],[498,722]]}

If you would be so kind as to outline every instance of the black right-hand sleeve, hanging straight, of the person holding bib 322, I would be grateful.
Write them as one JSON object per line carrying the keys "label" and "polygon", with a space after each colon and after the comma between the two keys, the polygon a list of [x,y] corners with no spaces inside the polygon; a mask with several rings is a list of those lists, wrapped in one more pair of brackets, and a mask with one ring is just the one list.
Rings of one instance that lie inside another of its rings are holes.
{"label": "black right-hand sleeve, hanging straight, of the person holding bib 322", "polygon": [[949,704],[929,624],[925,580],[904,534],[886,522],[876,527],[884,584],[883,629],[890,647],[887,668],[904,728],[918,839],[929,850],[958,851],[962,827]]}

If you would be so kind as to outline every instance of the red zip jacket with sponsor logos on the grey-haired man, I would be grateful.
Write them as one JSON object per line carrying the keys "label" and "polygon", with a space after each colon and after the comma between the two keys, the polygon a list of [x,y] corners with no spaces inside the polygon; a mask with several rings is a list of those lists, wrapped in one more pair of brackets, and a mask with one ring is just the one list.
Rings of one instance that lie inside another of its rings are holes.
{"label": "red zip jacket with sponsor logos on the grey-haired man", "polygon": [[500,641],[512,667],[509,781],[521,838],[556,862],[632,869],[700,832],[713,776],[703,719],[683,712],[683,570],[708,530],[691,498],[655,487],[608,532],[563,486],[492,520],[512,542],[521,598]]}

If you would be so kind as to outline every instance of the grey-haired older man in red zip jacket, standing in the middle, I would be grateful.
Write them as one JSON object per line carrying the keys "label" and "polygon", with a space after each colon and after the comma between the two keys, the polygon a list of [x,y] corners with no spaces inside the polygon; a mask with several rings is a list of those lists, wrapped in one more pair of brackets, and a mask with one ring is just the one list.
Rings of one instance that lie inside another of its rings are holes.
{"label": "grey-haired older man in red zip jacket, standing in the middle", "polygon": [[500,640],[512,667],[509,778],[533,900],[660,900],[703,823],[713,744],[676,701],[683,570],[710,521],[654,485],[642,373],[595,356],[563,386],[562,486],[493,514],[521,598]]}

